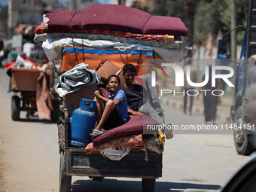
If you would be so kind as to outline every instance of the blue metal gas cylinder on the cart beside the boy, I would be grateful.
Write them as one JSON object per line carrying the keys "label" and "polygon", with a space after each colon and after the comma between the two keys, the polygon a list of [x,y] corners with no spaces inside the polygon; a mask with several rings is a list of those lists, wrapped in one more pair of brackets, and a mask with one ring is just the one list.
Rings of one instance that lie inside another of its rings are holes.
{"label": "blue metal gas cylinder on the cart beside the boy", "polygon": [[80,108],[72,115],[70,145],[83,148],[91,142],[90,133],[96,123],[95,108],[96,101],[81,99]]}

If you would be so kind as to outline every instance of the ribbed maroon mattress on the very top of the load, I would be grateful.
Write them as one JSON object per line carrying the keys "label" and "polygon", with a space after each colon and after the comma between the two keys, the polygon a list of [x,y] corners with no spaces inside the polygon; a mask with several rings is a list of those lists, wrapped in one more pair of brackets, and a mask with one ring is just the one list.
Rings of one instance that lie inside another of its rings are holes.
{"label": "ribbed maroon mattress on the very top of the load", "polygon": [[44,11],[44,14],[50,19],[47,32],[111,29],[151,35],[187,35],[187,29],[179,18],[151,16],[123,5],[93,5],[81,11]]}

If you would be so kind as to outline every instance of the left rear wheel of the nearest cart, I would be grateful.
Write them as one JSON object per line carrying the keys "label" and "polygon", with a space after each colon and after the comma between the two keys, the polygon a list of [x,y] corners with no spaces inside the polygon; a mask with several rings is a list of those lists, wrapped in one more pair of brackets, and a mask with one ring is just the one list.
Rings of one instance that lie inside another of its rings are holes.
{"label": "left rear wheel of the nearest cart", "polygon": [[65,175],[64,169],[65,169],[65,158],[64,158],[64,151],[62,151],[60,154],[60,161],[59,161],[59,192],[70,192],[72,176]]}

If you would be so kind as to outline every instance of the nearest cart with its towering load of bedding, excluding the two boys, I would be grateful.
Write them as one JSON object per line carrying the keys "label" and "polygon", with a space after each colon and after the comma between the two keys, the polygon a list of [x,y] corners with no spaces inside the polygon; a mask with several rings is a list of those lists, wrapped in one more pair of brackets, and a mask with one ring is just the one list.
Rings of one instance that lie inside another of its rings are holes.
{"label": "nearest cart with its towering load of bedding, excluding the two boys", "polygon": [[162,176],[165,139],[158,131],[146,133],[145,125],[157,125],[155,120],[145,114],[130,115],[122,126],[93,140],[90,136],[85,139],[94,123],[89,133],[76,134],[85,139],[78,141],[72,136],[74,118],[84,114],[76,110],[90,106],[90,102],[82,101],[92,101],[95,90],[108,98],[105,78],[109,75],[118,75],[123,85],[121,71],[127,63],[136,66],[136,84],[149,92],[148,81],[142,77],[147,75],[144,69],[152,68],[147,68],[145,60],[180,61],[185,52],[181,41],[184,35],[187,29],[179,18],[151,16],[122,5],[44,11],[44,22],[36,29],[34,41],[44,41],[42,47],[50,61],[61,59],[63,72],[55,84],[56,93],[62,97],[57,123],[60,192],[71,190],[72,175],[96,181],[104,177],[142,178],[142,191],[154,191],[156,178]]}

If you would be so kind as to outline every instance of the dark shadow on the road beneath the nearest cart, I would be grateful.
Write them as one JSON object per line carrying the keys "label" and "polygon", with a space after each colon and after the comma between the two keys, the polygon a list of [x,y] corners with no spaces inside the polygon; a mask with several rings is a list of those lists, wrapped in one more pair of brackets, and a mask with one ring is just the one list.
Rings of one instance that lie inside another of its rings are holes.
{"label": "dark shadow on the road beneath the nearest cart", "polygon": [[[216,184],[193,184],[193,183],[174,183],[174,182],[156,182],[155,192],[166,191],[206,191],[218,190],[221,186]],[[141,192],[142,181],[118,181],[117,179],[104,178],[102,181],[77,180],[72,184],[73,192]]]}

